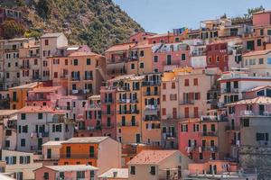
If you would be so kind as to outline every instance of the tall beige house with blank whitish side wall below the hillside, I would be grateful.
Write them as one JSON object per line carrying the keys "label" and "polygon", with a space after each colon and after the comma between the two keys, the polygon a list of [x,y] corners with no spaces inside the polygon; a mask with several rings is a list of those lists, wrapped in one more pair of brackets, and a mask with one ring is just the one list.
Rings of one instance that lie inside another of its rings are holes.
{"label": "tall beige house with blank whitish side wall below the hillside", "polygon": [[55,54],[60,47],[68,46],[68,40],[62,32],[45,33],[40,38],[41,50],[41,73],[42,81],[50,80],[50,70],[48,57]]}

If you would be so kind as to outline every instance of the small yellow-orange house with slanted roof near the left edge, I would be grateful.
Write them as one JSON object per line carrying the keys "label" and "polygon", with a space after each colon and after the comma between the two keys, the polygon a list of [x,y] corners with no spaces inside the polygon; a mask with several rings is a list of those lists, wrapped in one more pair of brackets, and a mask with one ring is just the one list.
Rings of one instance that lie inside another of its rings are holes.
{"label": "small yellow-orange house with slanted roof near the left edge", "polygon": [[22,109],[26,104],[28,92],[39,86],[42,86],[42,83],[34,82],[9,88],[10,109]]}

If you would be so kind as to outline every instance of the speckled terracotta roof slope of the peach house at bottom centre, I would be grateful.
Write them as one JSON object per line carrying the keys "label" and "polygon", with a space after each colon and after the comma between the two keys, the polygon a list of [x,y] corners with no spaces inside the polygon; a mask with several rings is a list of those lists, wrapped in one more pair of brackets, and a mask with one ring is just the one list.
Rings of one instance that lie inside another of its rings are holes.
{"label": "speckled terracotta roof slope of the peach house at bottom centre", "polygon": [[130,165],[158,164],[167,157],[171,157],[178,150],[143,150],[128,162]]}

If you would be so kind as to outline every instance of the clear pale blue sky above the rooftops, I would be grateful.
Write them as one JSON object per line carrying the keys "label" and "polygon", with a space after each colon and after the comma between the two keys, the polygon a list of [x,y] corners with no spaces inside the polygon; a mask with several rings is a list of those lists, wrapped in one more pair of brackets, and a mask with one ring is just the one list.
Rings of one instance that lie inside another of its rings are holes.
{"label": "clear pale blue sky above the rooftops", "polygon": [[243,15],[248,8],[263,5],[271,10],[271,0],[113,0],[145,31],[162,33],[174,28],[199,28],[202,20]]}

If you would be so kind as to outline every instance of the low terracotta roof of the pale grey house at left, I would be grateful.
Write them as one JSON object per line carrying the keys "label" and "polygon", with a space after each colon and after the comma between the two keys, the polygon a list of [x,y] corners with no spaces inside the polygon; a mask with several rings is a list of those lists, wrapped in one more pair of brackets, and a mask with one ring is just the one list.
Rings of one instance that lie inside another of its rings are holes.
{"label": "low terracotta roof of the pale grey house at left", "polygon": [[37,113],[37,112],[51,112],[51,113],[64,113],[61,110],[52,109],[50,106],[24,106],[18,112],[20,113]]}

